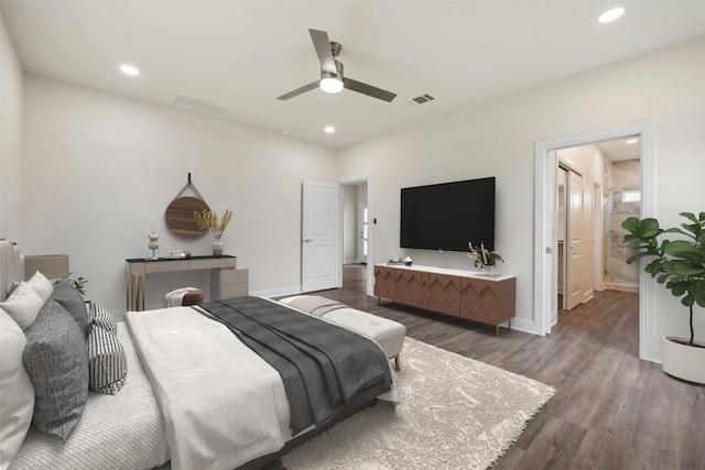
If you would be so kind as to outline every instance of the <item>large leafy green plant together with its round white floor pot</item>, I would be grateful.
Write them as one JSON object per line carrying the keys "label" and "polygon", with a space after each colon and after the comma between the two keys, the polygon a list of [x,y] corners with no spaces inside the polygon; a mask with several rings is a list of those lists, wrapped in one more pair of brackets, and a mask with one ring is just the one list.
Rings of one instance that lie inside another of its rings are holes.
{"label": "large leafy green plant together with its round white floor pot", "polygon": [[[663,341],[663,371],[690,382],[705,383],[705,343],[695,340],[693,307],[705,307],[705,212],[697,217],[681,212],[687,222],[680,228],[662,229],[653,218],[630,217],[622,222],[629,233],[626,242],[636,242],[637,253],[627,259],[633,263],[650,258],[644,271],[659,284],[665,284],[681,304],[690,309],[690,338],[665,337]],[[676,233],[675,239],[661,238]]]}

